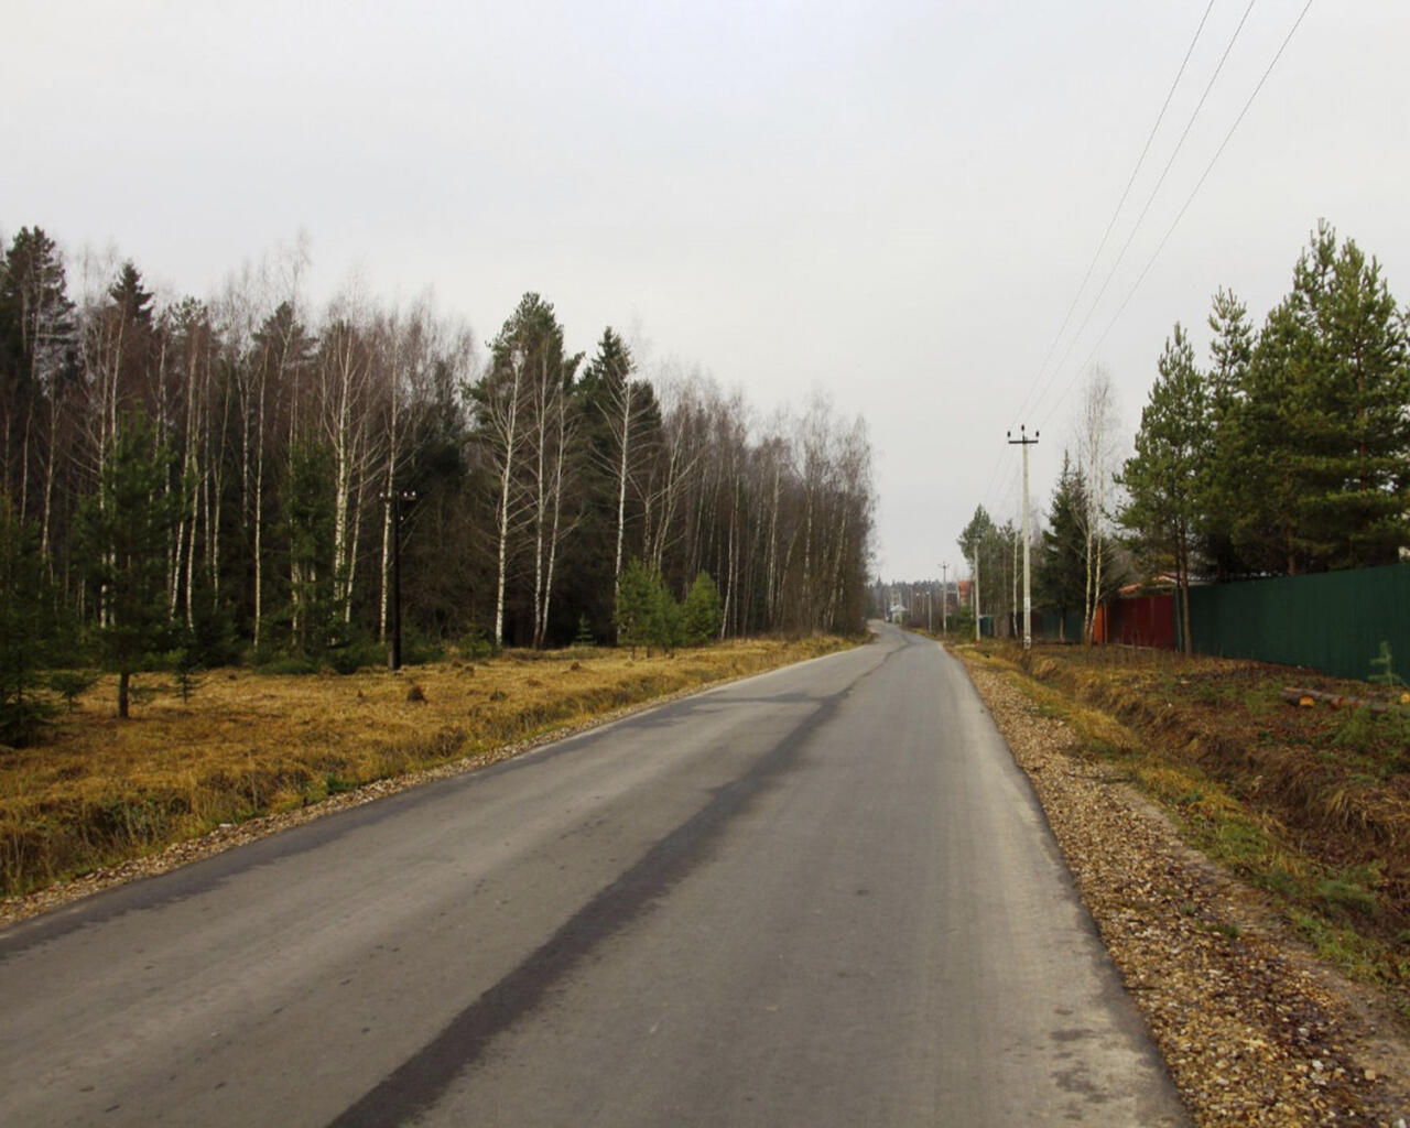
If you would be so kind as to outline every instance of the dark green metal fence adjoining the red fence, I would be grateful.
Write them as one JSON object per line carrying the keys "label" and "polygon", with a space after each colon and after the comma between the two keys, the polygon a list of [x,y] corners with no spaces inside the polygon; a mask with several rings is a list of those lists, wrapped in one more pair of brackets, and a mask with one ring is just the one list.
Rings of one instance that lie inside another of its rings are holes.
{"label": "dark green metal fence adjoining the red fence", "polygon": [[[1180,615],[1176,611],[1176,629]],[[1376,673],[1389,643],[1410,675],[1410,565],[1289,575],[1190,589],[1201,654],[1307,666],[1344,678]]]}

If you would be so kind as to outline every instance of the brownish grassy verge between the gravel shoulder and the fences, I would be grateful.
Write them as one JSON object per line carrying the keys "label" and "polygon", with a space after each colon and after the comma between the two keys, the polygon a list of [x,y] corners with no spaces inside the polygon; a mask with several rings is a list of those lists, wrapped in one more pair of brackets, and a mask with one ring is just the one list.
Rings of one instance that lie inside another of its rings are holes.
{"label": "brownish grassy verge between the gravel shoulder and the fences", "polygon": [[1382,687],[1114,649],[957,647],[1077,733],[1198,850],[1261,887],[1318,955],[1410,1000],[1410,776],[1399,712],[1282,699]]}

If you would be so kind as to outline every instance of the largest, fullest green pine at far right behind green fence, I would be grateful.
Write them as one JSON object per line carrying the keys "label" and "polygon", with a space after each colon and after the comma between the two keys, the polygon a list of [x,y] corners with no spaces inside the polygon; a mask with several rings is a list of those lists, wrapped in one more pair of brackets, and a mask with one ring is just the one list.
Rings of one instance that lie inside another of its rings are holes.
{"label": "largest, fullest green pine at far right behind green fence", "polygon": [[1375,259],[1323,226],[1249,354],[1217,443],[1232,543],[1255,572],[1389,564],[1410,544],[1410,354]]}

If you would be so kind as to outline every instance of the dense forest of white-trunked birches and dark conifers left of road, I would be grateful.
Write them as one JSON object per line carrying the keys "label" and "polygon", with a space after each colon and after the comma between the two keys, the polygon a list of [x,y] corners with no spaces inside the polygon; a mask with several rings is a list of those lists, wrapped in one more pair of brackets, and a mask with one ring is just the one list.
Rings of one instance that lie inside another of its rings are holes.
{"label": "dense forest of white-trunked birches and dark conifers left of road", "polygon": [[7,663],[365,658],[396,525],[429,642],[612,642],[633,561],[673,601],[706,574],[713,636],[860,626],[860,419],[816,399],[756,427],[706,378],[646,378],[612,329],[570,355],[536,293],[477,348],[429,302],[313,320],[271,278],[162,305],[131,262],[70,293],[39,228],[0,248]]}

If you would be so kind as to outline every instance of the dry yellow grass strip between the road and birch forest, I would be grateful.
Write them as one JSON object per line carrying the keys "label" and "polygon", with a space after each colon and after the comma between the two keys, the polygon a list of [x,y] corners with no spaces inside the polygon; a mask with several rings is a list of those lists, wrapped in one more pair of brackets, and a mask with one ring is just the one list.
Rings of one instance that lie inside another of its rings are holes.
{"label": "dry yellow grass strip between the road and birch forest", "polygon": [[395,675],[217,670],[189,702],[162,687],[127,722],[114,716],[104,680],[47,743],[0,750],[0,894],[374,780],[462,757],[489,761],[496,749],[626,705],[846,644],[746,640],[634,660],[618,650],[510,651]]}

